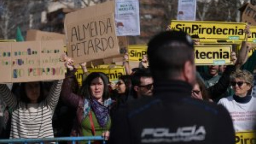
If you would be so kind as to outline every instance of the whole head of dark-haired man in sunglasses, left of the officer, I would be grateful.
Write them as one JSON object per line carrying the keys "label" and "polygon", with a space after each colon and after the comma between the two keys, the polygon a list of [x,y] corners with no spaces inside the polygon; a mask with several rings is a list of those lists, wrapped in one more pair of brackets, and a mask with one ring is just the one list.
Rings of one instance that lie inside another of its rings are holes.
{"label": "whole head of dark-haired man in sunglasses, left of the officer", "polygon": [[152,96],[153,78],[149,69],[138,69],[132,75],[132,94],[135,99]]}

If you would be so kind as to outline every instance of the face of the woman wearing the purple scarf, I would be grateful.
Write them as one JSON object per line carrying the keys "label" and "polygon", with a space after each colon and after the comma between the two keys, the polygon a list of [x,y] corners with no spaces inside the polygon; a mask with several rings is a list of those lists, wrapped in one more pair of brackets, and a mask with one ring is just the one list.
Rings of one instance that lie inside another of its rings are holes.
{"label": "face of the woman wearing the purple scarf", "polygon": [[104,83],[100,77],[94,78],[90,85],[90,92],[93,98],[100,100],[102,99],[104,91]]}

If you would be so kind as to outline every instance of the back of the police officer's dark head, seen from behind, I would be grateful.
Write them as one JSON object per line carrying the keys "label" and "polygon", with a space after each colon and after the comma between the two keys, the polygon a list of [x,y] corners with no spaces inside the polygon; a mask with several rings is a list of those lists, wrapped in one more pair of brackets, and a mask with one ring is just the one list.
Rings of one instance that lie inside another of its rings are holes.
{"label": "back of the police officer's dark head, seen from behind", "polygon": [[186,61],[194,63],[194,44],[183,31],[164,31],[148,43],[149,68],[154,78],[174,78]]}

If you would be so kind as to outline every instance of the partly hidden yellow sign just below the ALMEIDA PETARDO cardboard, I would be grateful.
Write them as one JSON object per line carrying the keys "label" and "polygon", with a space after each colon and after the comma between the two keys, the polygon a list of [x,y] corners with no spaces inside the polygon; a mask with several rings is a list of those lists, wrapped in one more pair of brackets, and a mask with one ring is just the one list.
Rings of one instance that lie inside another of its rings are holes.
{"label": "partly hidden yellow sign just below the ALMEIDA PETARDO cardboard", "polygon": [[[118,81],[118,78],[122,75],[125,75],[125,68],[124,67],[117,67],[117,68],[87,68],[89,73],[92,72],[102,72],[106,74],[111,82]],[[76,78],[78,84],[81,86],[83,81],[83,70],[77,69]]]}

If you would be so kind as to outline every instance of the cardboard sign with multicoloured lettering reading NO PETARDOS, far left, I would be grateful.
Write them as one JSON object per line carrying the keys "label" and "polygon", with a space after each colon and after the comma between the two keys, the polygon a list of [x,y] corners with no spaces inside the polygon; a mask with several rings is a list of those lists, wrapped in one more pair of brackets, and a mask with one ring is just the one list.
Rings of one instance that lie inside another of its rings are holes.
{"label": "cardboard sign with multicoloured lettering reading NO PETARDOS, far left", "polygon": [[63,41],[0,43],[0,83],[63,79]]}

